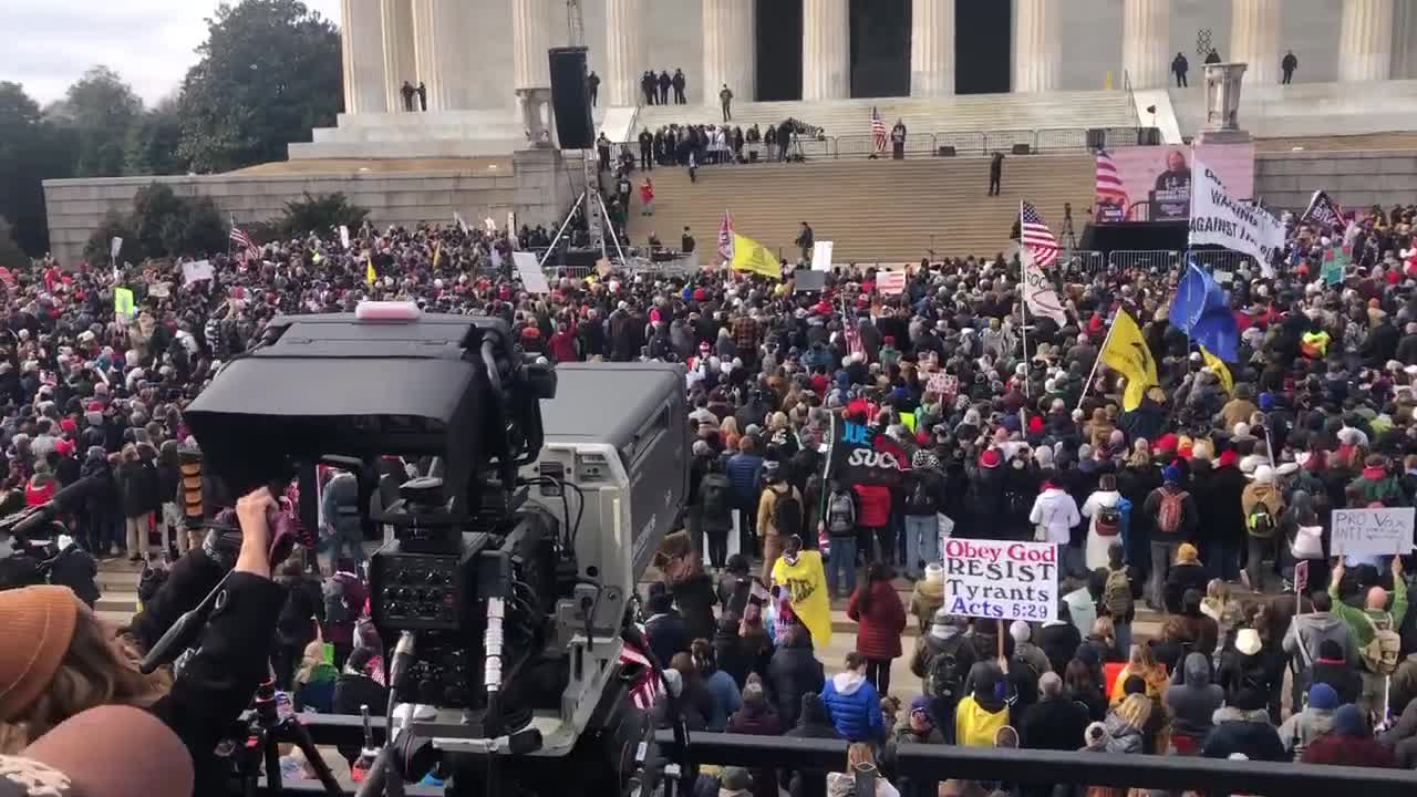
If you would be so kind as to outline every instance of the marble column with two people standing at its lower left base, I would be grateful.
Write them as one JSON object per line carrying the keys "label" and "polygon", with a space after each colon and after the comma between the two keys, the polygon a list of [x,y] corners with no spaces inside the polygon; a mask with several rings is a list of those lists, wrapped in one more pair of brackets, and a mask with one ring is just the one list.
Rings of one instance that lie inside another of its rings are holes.
{"label": "marble column with two people standing at its lower left base", "polygon": [[418,79],[428,87],[429,111],[473,106],[472,9],[463,0],[414,0]]}

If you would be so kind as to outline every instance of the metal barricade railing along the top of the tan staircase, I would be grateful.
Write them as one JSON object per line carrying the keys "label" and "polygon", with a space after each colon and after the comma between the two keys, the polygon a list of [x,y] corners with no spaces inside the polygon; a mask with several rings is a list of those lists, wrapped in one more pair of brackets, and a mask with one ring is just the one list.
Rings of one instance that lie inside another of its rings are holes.
{"label": "metal barricade railing along the top of the tan staircase", "polygon": [[[1151,128],[1020,128],[999,130],[941,130],[932,133],[913,132],[905,136],[905,155],[937,155],[941,147],[954,147],[955,155],[989,155],[990,152],[1010,152],[1017,145],[1024,145],[1030,152],[1085,152],[1110,146],[1136,146],[1144,143],[1146,130]],[[629,152],[639,157],[639,142],[622,142],[616,145],[619,152]],[[798,138],[792,140],[792,147],[808,160],[843,157],[870,157],[876,153],[876,143],[870,133],[847,133],[840,136]],[[748,160],[748,153],[757,150],[758,160],[778,160],[767,156],[767,145],[744,143],[743,159]],[[706,150],[707,152],[707,150]],[[781,152],[779,149],[774,152]],[[886,155],[891,146],[886,145]],[[704,157],[700,156],[700,165]]]}

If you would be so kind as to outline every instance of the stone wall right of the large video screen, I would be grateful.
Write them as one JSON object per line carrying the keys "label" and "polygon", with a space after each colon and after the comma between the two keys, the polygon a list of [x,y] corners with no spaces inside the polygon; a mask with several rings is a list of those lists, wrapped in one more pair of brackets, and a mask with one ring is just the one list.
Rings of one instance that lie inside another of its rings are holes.
{"label": "stone wall right of the large video screen", "polygon": [[1302,211],[1316,190],[1343,207],[1407,204],[1417,196],[1417,152],[1267,152],[1255,155],[1254,191],[1264,204]]}

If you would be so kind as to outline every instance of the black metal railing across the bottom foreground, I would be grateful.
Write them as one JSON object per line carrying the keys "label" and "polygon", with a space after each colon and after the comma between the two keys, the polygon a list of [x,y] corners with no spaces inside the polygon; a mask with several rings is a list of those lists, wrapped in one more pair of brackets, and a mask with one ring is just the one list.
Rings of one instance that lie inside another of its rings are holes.
{"label": "black metal railing across the bottom foreground", "polygon": [[[359,746],[363,742],[357,716],[302,715],[302,723],[316,745]],[[383,718],[373,718],[373,732],[374,742],[383,743]],[[669,730],[657,732],[656,740],[666,747],[674,743]],[[843,771],[846,742],[693,733],[687,756],[696,764],[778,769],[791,762],[791,767],[784,769]],[[1417,771],[1394,769],[954,745],[900,745],[893,769],[897,776],[917,781],[955,779],[1285,797],[1410,797],[1417,793]],[[300,794],[317,788],[316,781],[293,781],[285,790]],[[441,794],[441,790],[410,786],[408,794]]]}

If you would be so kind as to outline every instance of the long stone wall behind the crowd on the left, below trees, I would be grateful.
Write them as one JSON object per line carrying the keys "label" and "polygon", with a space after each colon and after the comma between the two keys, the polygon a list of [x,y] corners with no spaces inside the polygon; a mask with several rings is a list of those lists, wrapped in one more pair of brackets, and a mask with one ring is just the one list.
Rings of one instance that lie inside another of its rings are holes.
{"label": "long stone wall behind the crowd on the left, below trees", "polygon": [[[554,156],[554,157],[553,157]],[[89,234],[111,210],[128,213],[139,189],[160,182],[179,196],[210,196],[237,224],[279,216],[282,206],[303,193],[343,191],[370,211],[376,225],[452,221],[453,211],[468,221],[487,216],[500,223],[516,210],[519,223],[553,224],[568,207],[570,187],[560,153],[536,153],[516,173],[332,173],[332,174],[208,174],[180,177],[112,177],[45,180],[44,201],[50,214],[50,248],[64,264],[75,264]],[[519,187],[519,177],[529,184]],[[519,197],[524,207],[519,207]]]}

